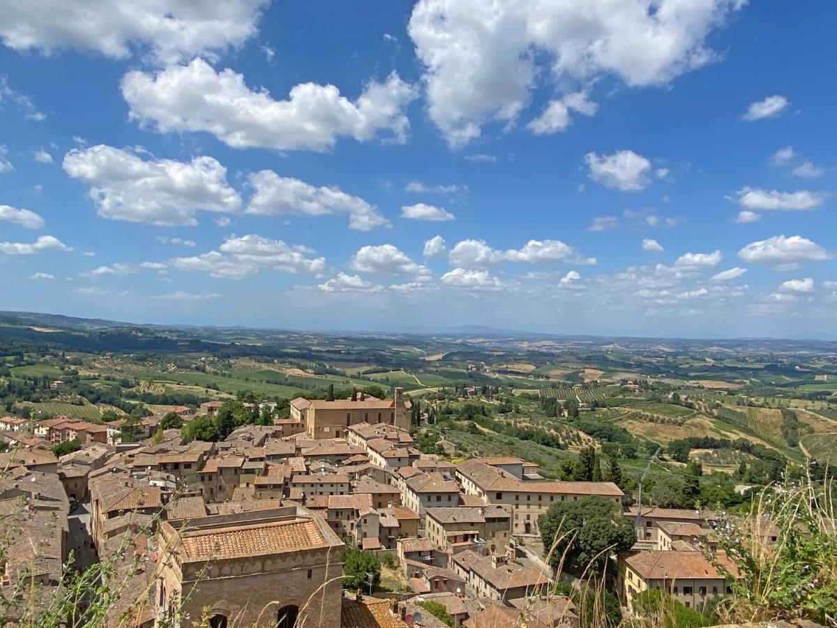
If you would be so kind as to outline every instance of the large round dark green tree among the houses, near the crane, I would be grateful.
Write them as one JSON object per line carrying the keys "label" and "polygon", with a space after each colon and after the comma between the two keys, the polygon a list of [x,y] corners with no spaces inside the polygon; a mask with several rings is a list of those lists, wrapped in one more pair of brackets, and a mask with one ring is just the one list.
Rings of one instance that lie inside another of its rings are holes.
{"label": "large round dark green tree among the houses, near the crane", "polygon": [[552,565],[557,567],[566,551],[565,565],[577,573],[588,565],[589,573],[598,573],[609,553],[624,552],[636,542],[634,522],[605,497],[553,504],[538,519],[538,527]]}

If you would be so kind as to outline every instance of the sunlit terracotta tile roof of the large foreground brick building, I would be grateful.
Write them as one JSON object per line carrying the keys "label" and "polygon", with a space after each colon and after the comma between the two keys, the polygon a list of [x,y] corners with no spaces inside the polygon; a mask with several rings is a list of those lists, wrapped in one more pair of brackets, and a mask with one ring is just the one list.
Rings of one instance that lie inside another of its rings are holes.
{"label": "sunlit terracotta tile roof of the large foreground brick building", "polygon": [[300,549],[328,546],[312,519],[290,519],[189,531],[182,535],[183,555],[187,560],[234,559],[246,556],[295,552]]}

